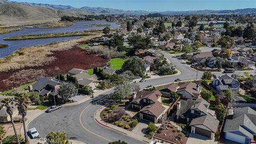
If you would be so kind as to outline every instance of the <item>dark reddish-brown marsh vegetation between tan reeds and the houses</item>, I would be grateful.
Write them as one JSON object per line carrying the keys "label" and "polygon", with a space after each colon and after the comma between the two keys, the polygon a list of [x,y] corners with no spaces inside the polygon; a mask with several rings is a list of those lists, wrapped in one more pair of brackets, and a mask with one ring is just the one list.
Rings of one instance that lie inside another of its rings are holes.
{"label": "dark reddish-brown marsh vegetation between tan reeds and the houses", "polygon": [[11,89],[31,81],[38,76],[55,76],[65,74],[72,68],[90,69],[103,66],[108,61],[95,54],[87,54],[77,45],[64,51],[52,51],[47,58],[54,58],[51,63],[44,66],[25,67],[9,70],[0,74],[0,91]]}

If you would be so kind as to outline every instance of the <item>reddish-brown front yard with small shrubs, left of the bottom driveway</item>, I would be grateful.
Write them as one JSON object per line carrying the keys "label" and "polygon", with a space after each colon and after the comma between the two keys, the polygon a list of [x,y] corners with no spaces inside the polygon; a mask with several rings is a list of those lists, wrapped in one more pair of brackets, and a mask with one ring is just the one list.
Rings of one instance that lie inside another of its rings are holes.
{"label": "reddish-brown front yard with small shrubs, left of the bottom driveway", "polygon": [[186,143],[188,140],[188,137],[177,130],[177,127],[167,122],[159,127],[157,133],[154,135],[154,138],[174,143]]}

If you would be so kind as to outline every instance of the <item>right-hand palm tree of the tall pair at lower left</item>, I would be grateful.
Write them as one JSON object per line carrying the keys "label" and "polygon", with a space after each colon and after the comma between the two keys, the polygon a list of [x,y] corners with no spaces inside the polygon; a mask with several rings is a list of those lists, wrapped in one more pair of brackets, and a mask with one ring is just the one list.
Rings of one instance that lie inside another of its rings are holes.
{"label": "right-hand palm tree of the tall pair at lower left", "polygon": [[28,105],[30,103],[29,95],[27,92],[19,92],[15,94],[15,101],[17,101],[16,106],[18,106],[19,115],[22,116],[23,129],[25,142],[29,143],[28,135],[26,130],[25,116],[27,115]]}

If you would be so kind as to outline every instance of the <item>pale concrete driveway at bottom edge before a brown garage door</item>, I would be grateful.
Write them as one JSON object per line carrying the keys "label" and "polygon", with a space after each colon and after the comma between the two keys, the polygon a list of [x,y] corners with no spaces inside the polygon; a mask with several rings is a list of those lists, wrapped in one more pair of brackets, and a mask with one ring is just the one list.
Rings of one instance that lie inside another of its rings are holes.
{"label": "pale concrete driveway at bottom edge before a brown garage door", "polygon": [[193,134],[191,133],[189,135],[187,144],[196,143],[196,144],[217,144],[218,141],[211,140],[207,137],[204,137],[203,135],[199,134]]}

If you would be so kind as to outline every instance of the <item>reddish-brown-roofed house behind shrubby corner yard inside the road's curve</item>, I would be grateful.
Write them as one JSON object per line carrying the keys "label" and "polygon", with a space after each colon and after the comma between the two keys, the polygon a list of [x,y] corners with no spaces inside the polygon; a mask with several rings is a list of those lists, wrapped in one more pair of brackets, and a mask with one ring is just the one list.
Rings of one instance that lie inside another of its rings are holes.
{"label": "reddish-brown-roofed house behind shrubby corner yard inside the road's curve", "polygon": [[134,93],[131,102],[131,108],[139,110],[141,119],[157,123],[163,118],[166,108],[162,105],[162,93],[158,90],[147,91],[142,90]]}

